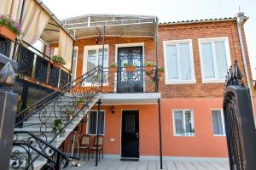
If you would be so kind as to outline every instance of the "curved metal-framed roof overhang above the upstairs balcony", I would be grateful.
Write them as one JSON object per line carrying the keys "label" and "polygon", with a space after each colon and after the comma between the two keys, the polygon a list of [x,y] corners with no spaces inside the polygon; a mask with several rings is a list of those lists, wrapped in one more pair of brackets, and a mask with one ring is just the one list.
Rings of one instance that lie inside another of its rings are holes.
{"label": "curved metal-framed roof overhang above the upstairs balcony", "polygon": [[101,37],[105,26],[106,37],[154,37],[156,16],[86,14],[63,20],[75,37]]}

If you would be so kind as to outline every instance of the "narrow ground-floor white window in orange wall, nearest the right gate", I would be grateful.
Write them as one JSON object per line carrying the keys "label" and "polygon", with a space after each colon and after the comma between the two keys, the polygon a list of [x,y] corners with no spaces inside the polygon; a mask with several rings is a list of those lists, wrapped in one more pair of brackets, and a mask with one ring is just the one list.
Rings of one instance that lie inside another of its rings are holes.
{"label": "narrow ground-floor white window in orange wall, nearest the right gate", "polygon": [[222,110],[212,110],[212,126],[215,136],[224,136],[224,114]]}

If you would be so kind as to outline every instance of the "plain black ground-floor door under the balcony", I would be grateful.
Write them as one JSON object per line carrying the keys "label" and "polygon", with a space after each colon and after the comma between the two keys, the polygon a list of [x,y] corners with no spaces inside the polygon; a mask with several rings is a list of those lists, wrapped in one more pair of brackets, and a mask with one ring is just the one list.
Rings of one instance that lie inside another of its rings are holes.
{"label": "plain black ground-floor door under the balcony", "polygon": [[138,111],[122,112],[122,157],[139,157]]}

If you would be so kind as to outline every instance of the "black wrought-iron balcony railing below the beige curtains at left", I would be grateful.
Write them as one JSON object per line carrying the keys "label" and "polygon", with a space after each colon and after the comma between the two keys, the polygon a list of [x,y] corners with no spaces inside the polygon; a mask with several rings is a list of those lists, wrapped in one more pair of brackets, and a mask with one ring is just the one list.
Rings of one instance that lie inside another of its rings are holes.
{"label": "black wrought-iron balcony railing below the beige curtains at left", "polygon": [[[17,77],[39,83],[49,88],[61,88],[70,81],[70,71],[64,67],[55,68],[48,55],[22,42],[15,43],[0,37],[0,53],[18,63]],[[16,51],[15,55],[13,51]]]}

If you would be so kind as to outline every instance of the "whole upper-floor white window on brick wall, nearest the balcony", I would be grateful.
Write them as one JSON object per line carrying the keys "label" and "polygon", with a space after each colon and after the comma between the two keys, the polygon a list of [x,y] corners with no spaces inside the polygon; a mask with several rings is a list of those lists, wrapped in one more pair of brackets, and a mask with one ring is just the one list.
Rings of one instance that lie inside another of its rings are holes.
{"label": "whole upper-floor white window on brick wall, nearest the balcony", "polygon": [[195,83],[191,40],[164,42],[166,84]]}

